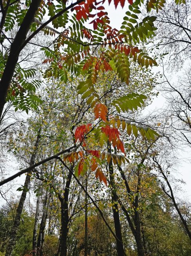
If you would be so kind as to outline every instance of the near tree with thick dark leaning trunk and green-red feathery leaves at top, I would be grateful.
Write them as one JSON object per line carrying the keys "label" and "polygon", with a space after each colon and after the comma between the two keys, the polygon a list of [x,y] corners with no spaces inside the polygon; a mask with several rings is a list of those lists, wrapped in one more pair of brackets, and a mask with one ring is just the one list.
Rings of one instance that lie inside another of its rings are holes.
{"label": "near tree with thick dark leaning trunk and green-red feathery leaves at top", "polygon": [[[119,2],[115,2],[115,7],[118,6]],[[95,0],[87,2],[78,0],[68,5],[67,1],[60,0],[56,2],[49,0],[47,3],[40,0],[27,0],[23,5],[20,1],[10,0],[6,4],[1,1],[2,19],[0,29],[1,43],[3,45],[1,58],[5,58],[5,61],[2,62],[3,65],[1,67],[0,115],[2,115],[3,107],[7,100],[15,102],[16,109],[24,109],[27,112],[30,108],[36,108],[36,105],[40,102],[35,95],[39,82],[36,81],[34,83],[33,81],[33,83],[30,83],[24,79],[24,76],[25,78],[34,76],[36,70],[22,68],[19,61],[21,51],[28,44],[40,46],[47,57],[44,63],[51,63],[51,69],[45,72],[45,77],[53,74],[55,77],[59,76],[62,80],[67,80],[66,69],[76,73],[77,70],[81,72],[83,69],[91,67],[89,73],[92,73],[92,79],[87,80],[89,87],[92,87],[94,80],[96,80],[98,70],[107,71],[113,69],[114,67],[112,68],[109,62],[118,58],[121,60],[116,62],[115,68],[122,81],[127,83],[130,71],[127,56],[133,57],[135,60],[138,58],[138,63],[142,63],[146,67],[156,65],[155,60],[132,45],[139,43],[140,40],[146,41],[147,38],[154,34],[153,31],[156,30],[153,24],[155,17],[147,16],[138,24],[138,16],[136,14],[140,13],[139,5],[142,2],[137,0],[133,3],[132,0],[129,0],[129,12],[124,18],[124,24],[126,25],[126,20],[129,20],[131,25],[129,25],[130,27],[123,25],[120,32],[118,32],[115,28],[109,26],[109,18],[103,3],[104,1],[98,4]],[[120,2],[120,4],[124,7],[125,2]],[[97,10],[96,14],[92,13],[94,9]],[[69,18],[70,14],[72,19]],[[45,15],[49,17],[49,20],[42,22]],[[16,32],[14,30],[15,17],[18,17],[16,18],[16,25],[18,26]],[[72,22],[72,26],[70,26],[71,32],[67,29],[69,21]],[[85,27],[84,21],[90,21],[90,24],[93,24],[93,30]],[[51,22],[53,29],[47,26]],[[143,27],[144,33],[140,32]],[[56,31],[55,29],[58,28],[63,28],[64,32]],[[76,28],[78,33],[75,31]],[[35,41],[36,35],[42,30],[47,34],[51,33],[53,35],[57,33],[59,35],[53,47],[48,45],[42,47]],[[11,37],[6,35],[9,31],[13,32]],[[30,32],[31,34],[29,35]],[[6,42],[10,44],[9,54],[7,54],[9,47],[7,47]],[[63,47],[64,44],[68,45],[68,47]],[[102,51],[102,54],[96,57],[93,53],[98,45],[108,45],[109,49]],[[77,64],[78,62],[80,65]],[[124,75],[122,71],[127,72]]]}

